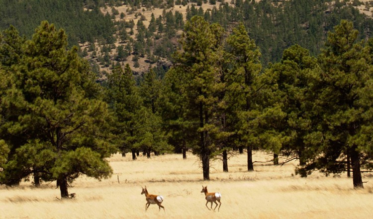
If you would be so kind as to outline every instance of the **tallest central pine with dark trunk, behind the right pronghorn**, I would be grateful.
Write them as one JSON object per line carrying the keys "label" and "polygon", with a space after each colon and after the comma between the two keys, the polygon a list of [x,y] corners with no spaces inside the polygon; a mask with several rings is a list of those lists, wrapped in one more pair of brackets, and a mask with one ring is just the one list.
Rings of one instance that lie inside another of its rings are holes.
{"label": "tallest central pine with dark trunk, behind the right pronghorn", "polygon": [[211,123],[212,113],[218,98],[215,61],[217,36],[211,26],[200,16],[194,16],[185,24],[182,36],[183,50],[178,51],[176,71],[185,81],[187,120],[193,123],[193,132],[198,134],[199,143],[193,148],[202,161],[203,180],[209,180],[209,162],[215,147],[211,132],[216,127]]}

